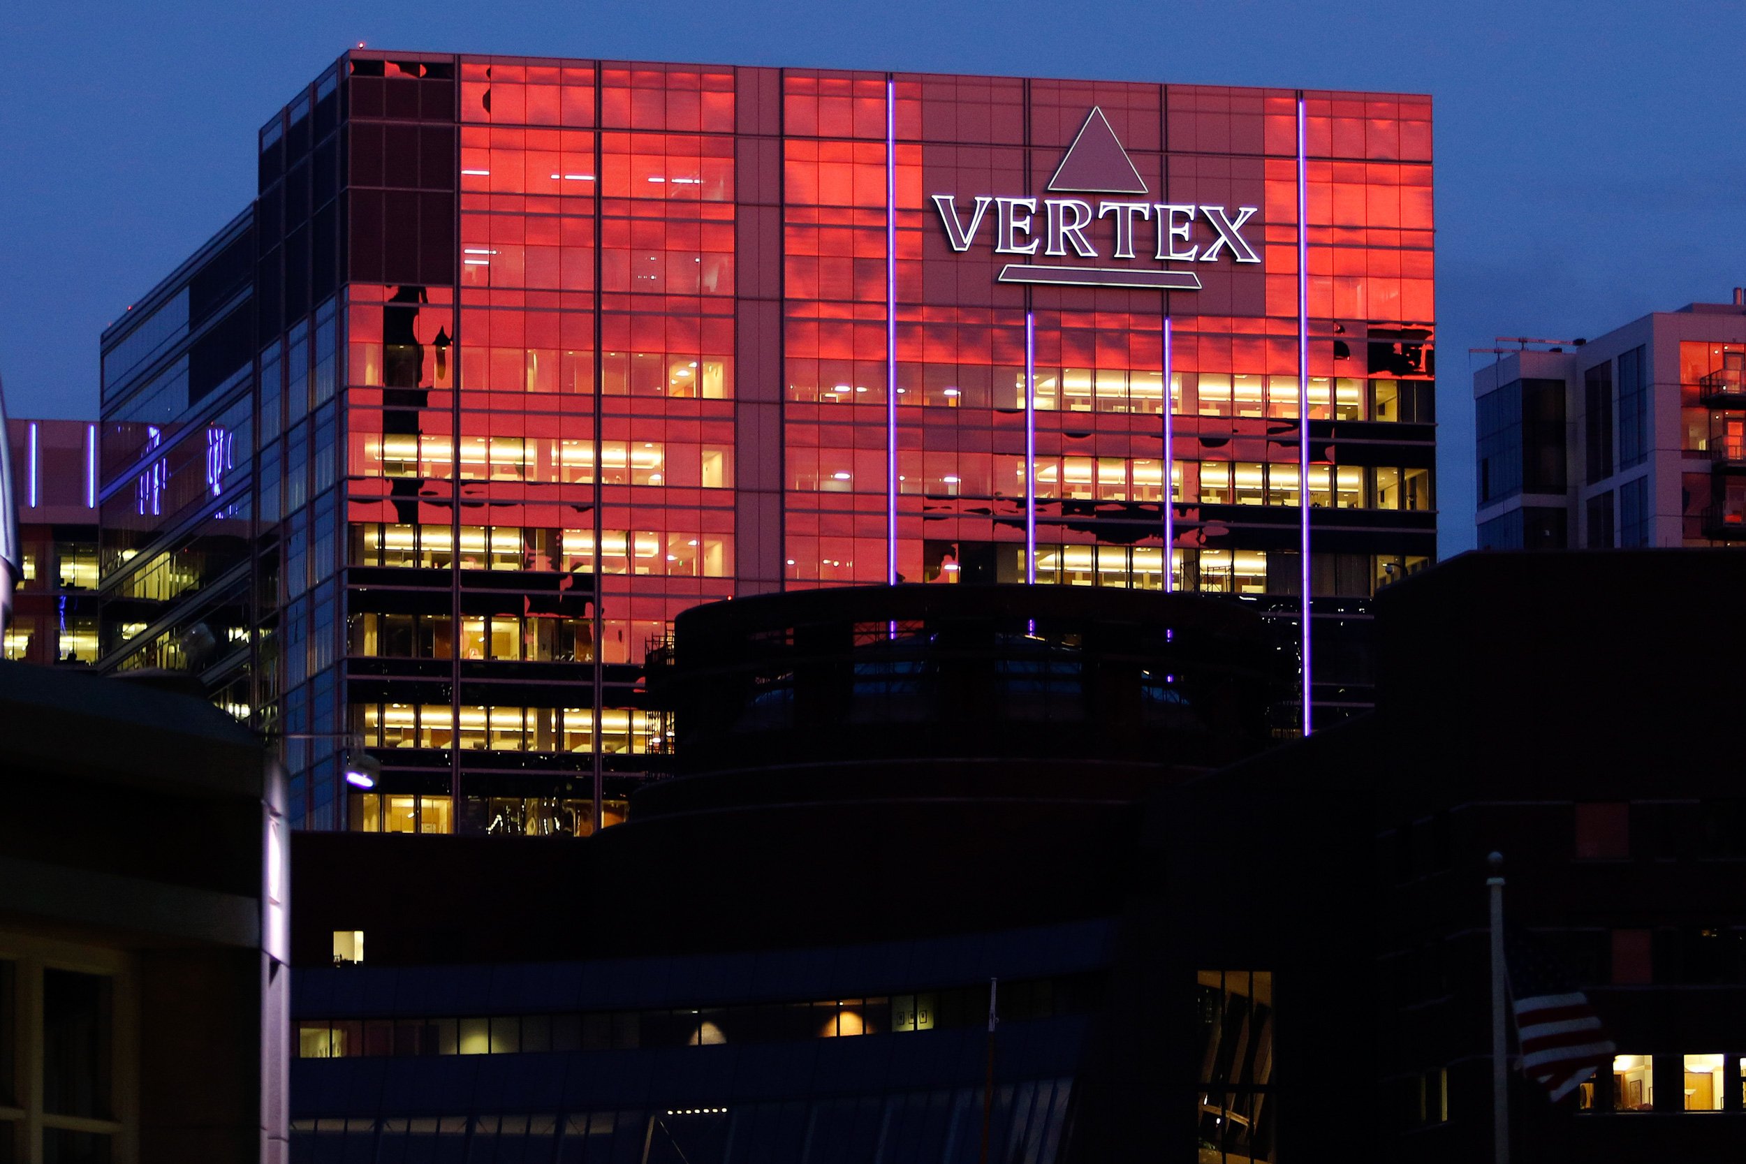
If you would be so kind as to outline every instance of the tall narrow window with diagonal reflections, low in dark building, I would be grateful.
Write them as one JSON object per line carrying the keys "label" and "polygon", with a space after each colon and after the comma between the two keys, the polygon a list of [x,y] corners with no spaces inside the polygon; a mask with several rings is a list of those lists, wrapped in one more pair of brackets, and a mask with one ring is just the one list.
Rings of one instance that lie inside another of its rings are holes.
{"label": "tall narrow window with diagonal reflections, low in dark building", "polygon": [[1200,1159],[1205,1164],[1275,1161],[1273,974],[1201,970]]}

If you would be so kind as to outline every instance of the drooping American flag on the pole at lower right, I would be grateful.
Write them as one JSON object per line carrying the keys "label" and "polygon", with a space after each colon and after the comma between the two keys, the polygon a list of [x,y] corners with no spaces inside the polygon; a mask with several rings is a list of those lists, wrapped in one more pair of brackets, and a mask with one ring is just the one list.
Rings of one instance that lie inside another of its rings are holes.
{"label": "drooping American flag on the pole at lower right", "polygon": [[1613,1061],[1613,1044],[1589,996],[1538,942],[1510,934],[1505,942],[1523,1073],[1557,1103]]}

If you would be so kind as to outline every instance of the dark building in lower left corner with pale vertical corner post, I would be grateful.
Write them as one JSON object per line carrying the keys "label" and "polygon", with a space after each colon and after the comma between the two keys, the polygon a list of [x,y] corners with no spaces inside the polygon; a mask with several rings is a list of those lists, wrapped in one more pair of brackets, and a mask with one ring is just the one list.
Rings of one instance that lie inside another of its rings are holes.
{"label": "dark building in lower left corner with pale vertical corner post", "polygon": [[0,663],[0,1161],[283,1161],[288,831],[258,742]]}

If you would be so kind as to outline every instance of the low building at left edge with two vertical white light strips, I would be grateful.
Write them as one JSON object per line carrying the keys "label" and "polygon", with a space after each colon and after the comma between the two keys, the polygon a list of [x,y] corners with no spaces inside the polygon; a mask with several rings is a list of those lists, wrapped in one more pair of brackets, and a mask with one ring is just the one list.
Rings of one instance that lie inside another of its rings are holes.
{"label": "low building at left edge with two vertical white light strips", "polygon": [[17,506],[19,578],[5,625],[5,658],[98,661],[98,426],[7,421]]}

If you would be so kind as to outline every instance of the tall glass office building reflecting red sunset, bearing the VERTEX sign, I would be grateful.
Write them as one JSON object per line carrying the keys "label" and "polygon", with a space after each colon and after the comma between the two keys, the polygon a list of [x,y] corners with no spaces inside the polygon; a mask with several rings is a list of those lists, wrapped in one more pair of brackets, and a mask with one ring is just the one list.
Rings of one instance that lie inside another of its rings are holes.
{"label": "tall glass office building reflecting red sunset, bearing the VERTEX sign", "polygon": [[103,635],[306,827],[613,824],[782,588],[1227,593],[1336,719],[1433,553],[1428,98],[356,51],[258,175],[105,333]]}

